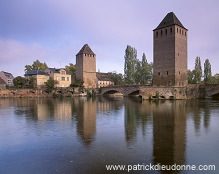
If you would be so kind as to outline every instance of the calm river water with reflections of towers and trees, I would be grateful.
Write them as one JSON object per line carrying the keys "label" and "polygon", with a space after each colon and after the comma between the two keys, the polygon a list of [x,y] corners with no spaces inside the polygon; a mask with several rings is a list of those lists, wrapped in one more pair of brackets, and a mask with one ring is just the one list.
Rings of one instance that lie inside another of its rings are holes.
{"label": "calm river water with reflections of towers and trees", "polygon": [[175,173],[219,173],[219,101],[0,100],[0,174],[113,173],[105,165],[150,163],[213,164],[216,171]]}

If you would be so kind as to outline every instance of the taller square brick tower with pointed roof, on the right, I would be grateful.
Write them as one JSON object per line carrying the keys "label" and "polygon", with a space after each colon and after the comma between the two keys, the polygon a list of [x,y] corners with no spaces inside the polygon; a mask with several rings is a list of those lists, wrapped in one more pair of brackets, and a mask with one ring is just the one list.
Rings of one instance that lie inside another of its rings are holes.
{"label": "taller square brick tower with pointed roof, on the right", "polygon": [[153,30],[153,86],[188,84],[187,31],[173,12]]}

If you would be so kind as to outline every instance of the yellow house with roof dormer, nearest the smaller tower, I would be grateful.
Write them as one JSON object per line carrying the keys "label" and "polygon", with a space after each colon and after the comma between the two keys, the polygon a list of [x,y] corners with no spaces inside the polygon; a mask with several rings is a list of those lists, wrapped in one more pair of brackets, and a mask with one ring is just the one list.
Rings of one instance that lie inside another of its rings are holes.
{"label": "yellow house with roof dormer, nearest the smaller tower", "polygon": [[58,82],[55,87],[69,87],[71,85],[71,74],[64,68],[46,68],[44,72]]}

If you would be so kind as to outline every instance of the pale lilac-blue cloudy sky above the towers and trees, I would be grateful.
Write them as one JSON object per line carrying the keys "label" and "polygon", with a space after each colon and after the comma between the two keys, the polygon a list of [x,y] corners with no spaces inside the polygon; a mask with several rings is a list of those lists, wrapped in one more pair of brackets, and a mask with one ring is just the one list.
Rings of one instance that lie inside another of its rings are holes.
{"label": "pale lilac-blue cloudy sky above the towers and trees", "polygon": [[15,77],[35,60],[61,68],[84,44],[97,71],[123,73],[127,45],[153,61],[153,32],[169,12],[188,29],[188,68],[200,56],[219,73],[218,0],[1,0],[0,71]]}

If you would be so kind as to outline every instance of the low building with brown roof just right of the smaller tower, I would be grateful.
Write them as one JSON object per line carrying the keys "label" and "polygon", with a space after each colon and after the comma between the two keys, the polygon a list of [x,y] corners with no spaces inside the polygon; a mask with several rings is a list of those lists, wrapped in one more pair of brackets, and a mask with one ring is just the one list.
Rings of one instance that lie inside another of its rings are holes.
{"label": "low building with brown roof just right of the smaller tower", "polygon": [[96,75],[97,75],[97,88],[114,85],[114,81],[111,79],[112,73],[97,72]]}

